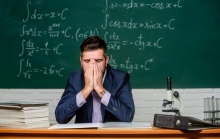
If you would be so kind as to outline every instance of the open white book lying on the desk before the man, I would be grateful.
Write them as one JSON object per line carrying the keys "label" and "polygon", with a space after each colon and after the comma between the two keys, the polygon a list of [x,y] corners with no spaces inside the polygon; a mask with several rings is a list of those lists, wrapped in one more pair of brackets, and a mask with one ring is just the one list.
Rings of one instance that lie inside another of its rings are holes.
{"label": "open white book lying on the desk before the man", "polygon": [[99,129],[140,129],[152,128],[146,122],[106,122],[106,123],[75,123],[75,124],[55,124],[48,129],[71,129],[71,128],[99,128]]}

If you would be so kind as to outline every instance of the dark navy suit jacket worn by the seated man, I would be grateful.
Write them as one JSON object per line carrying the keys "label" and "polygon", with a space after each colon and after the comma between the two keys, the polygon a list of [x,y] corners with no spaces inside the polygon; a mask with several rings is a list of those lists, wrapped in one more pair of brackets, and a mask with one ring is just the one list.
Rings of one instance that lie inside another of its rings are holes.
{"label": "dark navy suit jacket worn by the seated man", "polygon": [[[111,97],[107,106],[101,104],[103,122],[133,120],[135,110],[129,79],[128,73],[107,66],[103,86],[111,93]],[[65,91],[55,111],[58,123],[68,123],[75,115],[76,123],[92,122],[92,94],[88,96],[87,102],[82,107],[76,104],[76,94],[83,89],[84,85],[82,70],[69,74]]]}

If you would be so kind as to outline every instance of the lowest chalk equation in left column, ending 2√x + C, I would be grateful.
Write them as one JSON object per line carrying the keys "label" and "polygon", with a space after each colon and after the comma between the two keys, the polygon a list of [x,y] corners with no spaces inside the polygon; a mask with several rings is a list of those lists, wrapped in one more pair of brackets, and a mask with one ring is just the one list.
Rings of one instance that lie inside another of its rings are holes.
{"label": "lowest chalk equation in left column, ending 2\u221ax + C", "polygon": [[17,77],[24,77],[31,79],[33,74],[44,74],[44,75],[57,75],[63,77],[62,71],[65,68],[57,68],[56,65],[50,65],[49,67],[34,68],[33,64],[27,59],[20,60],[20,70]]}

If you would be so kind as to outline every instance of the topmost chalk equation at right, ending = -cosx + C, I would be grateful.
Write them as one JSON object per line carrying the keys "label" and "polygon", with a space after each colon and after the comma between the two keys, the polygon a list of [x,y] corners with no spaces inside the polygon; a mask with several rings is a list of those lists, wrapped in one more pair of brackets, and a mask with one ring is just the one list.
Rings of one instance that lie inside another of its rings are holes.
{"label": "topmost chalk equation at right, ending = -cosx + C", "polygon": [[144,2],[134,2],[135,0],[130,0],[129,3],[118,3],[118,2],[111,2],[108,3],[108,0],[105,1],[105,10],[102,10],[103,13],[106,13],[108,10],[124,8],[134,9],[134,8],[152,8],[157,10],[164,10],[164,9],[171,9],[171,8],[182,8],[182,2],[184,0],[177,0],[177,2],[152,2],[152,3],[144,3]]}

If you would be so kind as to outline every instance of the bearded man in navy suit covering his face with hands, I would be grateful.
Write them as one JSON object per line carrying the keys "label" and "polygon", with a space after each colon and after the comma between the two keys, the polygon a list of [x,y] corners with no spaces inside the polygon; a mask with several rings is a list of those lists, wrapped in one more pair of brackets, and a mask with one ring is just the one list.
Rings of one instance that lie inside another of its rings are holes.
{"label": "bearded man in navy suit covering his face with hands", "polygon": [[80,46],[82,70],[69,74],[56,107],[58,123],[131,122],[134,102],[129,74],[108,65],[105,41],[89,37]]}

